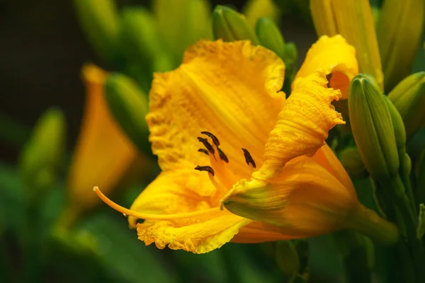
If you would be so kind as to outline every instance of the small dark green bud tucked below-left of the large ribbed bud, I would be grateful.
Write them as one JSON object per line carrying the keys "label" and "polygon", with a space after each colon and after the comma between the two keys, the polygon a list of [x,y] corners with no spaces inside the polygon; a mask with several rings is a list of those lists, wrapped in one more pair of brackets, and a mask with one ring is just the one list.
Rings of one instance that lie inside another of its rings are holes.
{"label": "small dark green bud tucked below-left of the large ribbed bud", "polygon": [[343,149],[338,157],[351,178],[361,179],[369,175],[356,147]]}

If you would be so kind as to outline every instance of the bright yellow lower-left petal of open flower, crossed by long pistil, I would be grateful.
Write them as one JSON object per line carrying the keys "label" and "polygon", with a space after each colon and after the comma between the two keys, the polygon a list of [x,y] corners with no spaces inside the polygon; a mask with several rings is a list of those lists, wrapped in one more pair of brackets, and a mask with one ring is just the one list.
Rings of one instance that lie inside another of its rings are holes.
{"label": "bright yellow lower-left petal of open flower, crossed by long pistil", "polygon": [[[211,188],[212,184],[205,172],[193,169],[162,172],[137,197],[131,210],[146,214],[183,214],[217,207],[210,197],[199,195],[208,187]],[[137,224],[137,219],[131,216],[128,220],[130,226],[137,226],[138,238],[146,245],[155,243],[158,248],[169,245],[171,249],[193,253],[220,248],[238,233],[240,227],[251,222],[220,210],[193,218],[145,220],[143,224]]]}

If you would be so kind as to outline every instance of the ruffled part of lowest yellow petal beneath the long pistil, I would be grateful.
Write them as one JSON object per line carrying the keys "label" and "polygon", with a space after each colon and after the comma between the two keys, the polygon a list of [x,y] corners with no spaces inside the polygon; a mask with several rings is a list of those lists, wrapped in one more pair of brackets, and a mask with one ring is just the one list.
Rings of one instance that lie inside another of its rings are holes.
{"label": "ruffled part of lowest yellow petal beneath the long pistil", "polygon": [[192,253],[208,253],[232,240],[239,228],[251,223],[227,211],[219,211],[206,217],[181,221],[145,221],[137,224],[137,235],[146,245],[155,243],[157,248],[187,250]]}

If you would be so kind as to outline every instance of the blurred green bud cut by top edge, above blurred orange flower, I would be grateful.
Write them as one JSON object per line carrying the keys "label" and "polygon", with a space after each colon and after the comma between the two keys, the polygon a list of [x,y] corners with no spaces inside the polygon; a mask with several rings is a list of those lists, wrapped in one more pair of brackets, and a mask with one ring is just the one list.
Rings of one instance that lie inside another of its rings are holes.
{"label": "blurred green bud cut by top edge, above blurred orange flower", "polygon": [[113,0],[74,0],[79,24],[101,59],[113,64],[118,59],[118,11]]}

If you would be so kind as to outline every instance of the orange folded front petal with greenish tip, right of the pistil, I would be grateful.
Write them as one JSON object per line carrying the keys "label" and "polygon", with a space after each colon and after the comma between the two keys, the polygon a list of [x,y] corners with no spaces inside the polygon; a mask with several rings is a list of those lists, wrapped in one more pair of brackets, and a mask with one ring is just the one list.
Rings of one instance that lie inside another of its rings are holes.
{"label": "orange folded front petal with greenish tip, right of the pistil", "polygon": [[287,236],[302,238],[343,228],[358,201],[326,168],[302,156],[271,181],[234,185],[224,204],[234,214],[266,221],[280,226]]}

